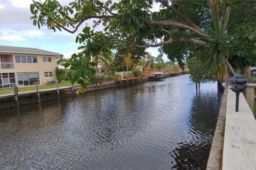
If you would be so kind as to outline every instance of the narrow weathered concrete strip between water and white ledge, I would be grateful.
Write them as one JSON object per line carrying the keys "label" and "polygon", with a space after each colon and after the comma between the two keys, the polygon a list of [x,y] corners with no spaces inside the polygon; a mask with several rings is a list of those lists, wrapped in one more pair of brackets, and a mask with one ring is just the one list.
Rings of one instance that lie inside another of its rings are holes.
{"label": "narrow weathered concrete strip between water and white ledge", "polygon": [[225,128],[225,119],[227,112],[227,89],[225,89],[222,102],[220,106],[220,112],[218,116],[218,121],[216,129],[214,132],[214,137],[212,140],[212,147],[210,155],[207,162],[207,170],[219,170],[222,168],[222,150],[224,137],[222,135],[223,129]]}

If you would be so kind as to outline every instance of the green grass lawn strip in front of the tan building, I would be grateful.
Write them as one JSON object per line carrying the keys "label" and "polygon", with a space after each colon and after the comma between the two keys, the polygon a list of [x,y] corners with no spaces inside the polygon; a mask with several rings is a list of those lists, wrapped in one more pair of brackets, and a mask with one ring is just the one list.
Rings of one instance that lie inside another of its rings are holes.
{"label": "green grass lawn strip in front of the tan building", "polygon": [[[77,83],[75,83],[76,85]],[[71,86],[71,83],[69,81],[62,81],[59,83],[59,87],[63,86]],[[49,84],[49,85],[39,85],[39,90],[42,89],[50,89],[50,88],[55,88],[56,84]],[[19,92],[25,92],[25,91],[34,91],[36,90],[36,86],[25,86],[25,87],[18,87]],[[8,89],[0,89],[0,95],[5,95],[5,94],[13,94],[13,88],[8,88]]]}

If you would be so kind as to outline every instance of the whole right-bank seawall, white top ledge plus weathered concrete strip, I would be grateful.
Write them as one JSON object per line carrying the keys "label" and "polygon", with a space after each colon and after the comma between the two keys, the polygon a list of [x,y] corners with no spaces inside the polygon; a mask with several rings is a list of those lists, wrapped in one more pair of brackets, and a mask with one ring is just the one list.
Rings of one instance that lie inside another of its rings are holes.
{"label": "whole right-bank seawall, white top ledge plus weathered concrete strip", "polygon": [[[251,93],[255,96],[254,92],[253,89]],[[256,169],[256,121],[243,94],[239,95],[238,112],[235,105],[235,92],[228,87],[222,99],[207,169]]]}

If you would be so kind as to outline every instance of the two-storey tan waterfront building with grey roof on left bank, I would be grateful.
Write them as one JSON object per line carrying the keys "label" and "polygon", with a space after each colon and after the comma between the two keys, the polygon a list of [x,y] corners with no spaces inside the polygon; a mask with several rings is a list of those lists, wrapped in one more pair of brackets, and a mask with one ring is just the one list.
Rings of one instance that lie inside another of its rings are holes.
{"label": "two-storey tan waterfront building with grey roof on left bank", "polygon": [[0,45],[0,88],[51,84],[57,80],[55,68],[59,53],[38,48]]}

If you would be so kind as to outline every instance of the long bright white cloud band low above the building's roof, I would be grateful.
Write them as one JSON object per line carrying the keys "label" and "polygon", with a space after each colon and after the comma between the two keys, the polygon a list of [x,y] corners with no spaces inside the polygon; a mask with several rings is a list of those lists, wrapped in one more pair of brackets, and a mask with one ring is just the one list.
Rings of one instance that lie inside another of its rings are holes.
{"label": "long bright white cloud band low above the building's roof", "polygon": [[1,29],[0,39],[5,41],[23,41],[27,38],[45,38],[46,32],[40,30]]}

